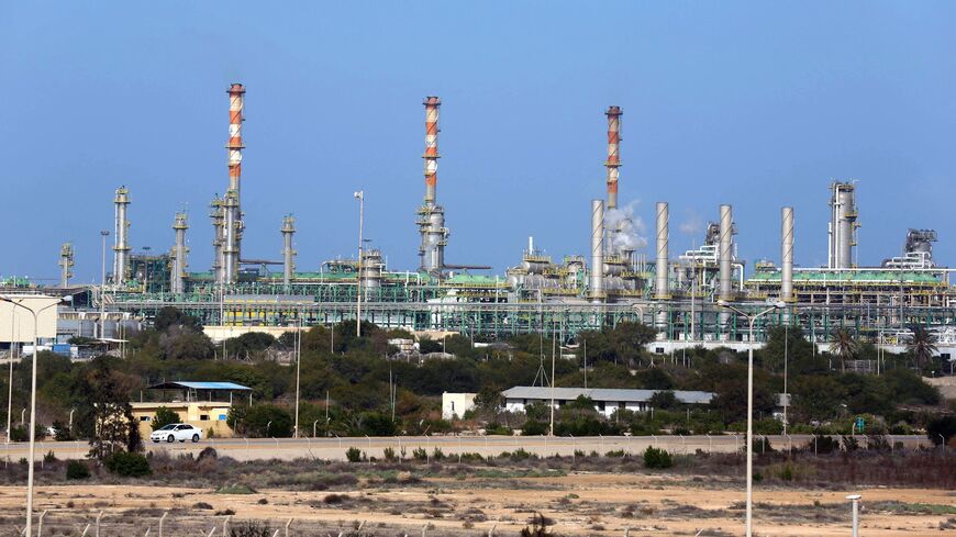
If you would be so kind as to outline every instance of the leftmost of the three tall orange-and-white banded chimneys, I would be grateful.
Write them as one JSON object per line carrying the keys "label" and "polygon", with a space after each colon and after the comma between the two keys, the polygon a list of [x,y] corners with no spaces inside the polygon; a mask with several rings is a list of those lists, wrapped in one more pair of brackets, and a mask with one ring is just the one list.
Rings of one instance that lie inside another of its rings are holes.
{"label": "leftmost of the three tall orange-and-white banded chimneys", "polygon": [[[226,250],[231,250],[232,255],[227,255],[232,266],[225,267],[224,273],[232,275],[234,278],[238,272],[240,259],[242,259],[242,238],[243,238],[243,213],[242,213],[242,164],[243,164],[243,109],[245,108],[246,89],[241,83],[230,86],[229,93],[229,143],[225,148],[229,153],[229,190],[226,191],[226,200],[232,194],[232,203],[226,203],[226,208],[233,214],[226,215],[226,220],[231,220],[229,224],[232,230],[226,230],[227,237]],[[230,233],[230,231],[232,233]],[[232,283],[233,280],[226,278],[226,283]]]}

